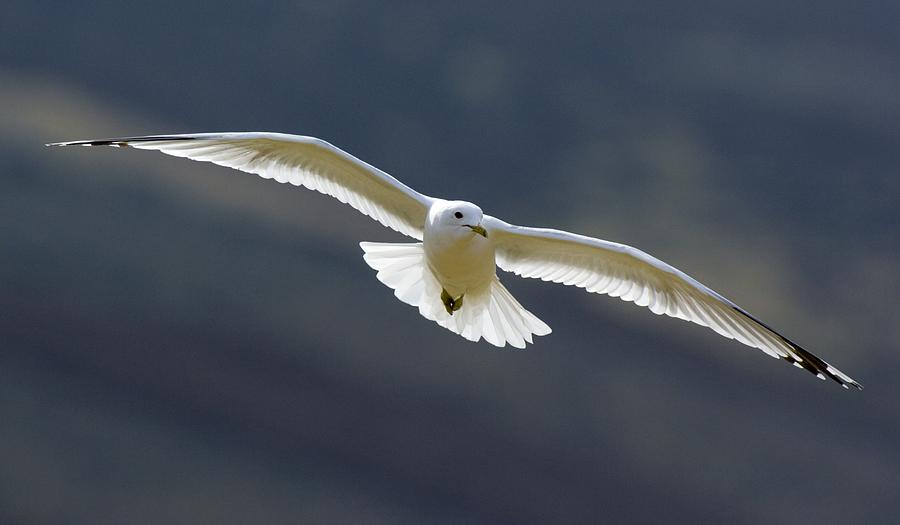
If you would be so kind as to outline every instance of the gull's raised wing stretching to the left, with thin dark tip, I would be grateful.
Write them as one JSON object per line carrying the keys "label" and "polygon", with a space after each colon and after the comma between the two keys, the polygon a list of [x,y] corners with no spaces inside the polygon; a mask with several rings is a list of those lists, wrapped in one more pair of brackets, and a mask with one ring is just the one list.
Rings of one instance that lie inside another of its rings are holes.
{"label": "gull's raised wing stretching to the left, with thin dark tip", "polygon": [[56,142],[159,150],[331,195],[381,224],[422,239],[432,199],[380,169],[313,137],[284,133],[197,133]]}

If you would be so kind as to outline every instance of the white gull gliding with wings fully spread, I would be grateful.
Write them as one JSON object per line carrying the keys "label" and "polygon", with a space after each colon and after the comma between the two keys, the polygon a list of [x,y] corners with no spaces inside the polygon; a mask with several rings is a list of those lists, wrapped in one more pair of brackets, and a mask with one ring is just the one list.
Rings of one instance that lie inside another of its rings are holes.
{"label": "white gull gliding with wings fully spread", "polygon": [[331,144],[283,133],[198,133],[57,142],[159,150],[349,204],[420,242],[362,242],[363,258],[401,301],[470,341],[524,348],[550,327],[497,278],[497,268],[607,294],[709,327],[844,388],[862,386],[684,272],[636,248],[560,230],[515,226],[478,206],[423,195]]}

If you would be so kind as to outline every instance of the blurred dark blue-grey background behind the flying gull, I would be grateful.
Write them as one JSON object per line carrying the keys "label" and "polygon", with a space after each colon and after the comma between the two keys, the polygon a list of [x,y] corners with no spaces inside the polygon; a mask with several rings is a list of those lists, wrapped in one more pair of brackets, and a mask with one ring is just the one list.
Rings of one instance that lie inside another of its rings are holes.
{"label": "blurred dark blue-grey background behind the flying gull", "polygon": [[[897,522],[897,2],[3,11],[0,523]],[[866,390],[511,275],[553,334],[471,344],[330,198],[42,146],[245,130],[635,245]]]}

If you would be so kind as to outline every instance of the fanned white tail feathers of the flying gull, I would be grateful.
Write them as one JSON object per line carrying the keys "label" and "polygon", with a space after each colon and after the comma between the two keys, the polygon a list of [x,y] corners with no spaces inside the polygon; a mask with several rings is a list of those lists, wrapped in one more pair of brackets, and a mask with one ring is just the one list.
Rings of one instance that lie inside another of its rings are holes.
{"label": "fanned white tail feathers of the flying gull", "polygon": [[481,290],[469,290],[463,304],[453,315],[441,301],[443,288],[425,260],[422,243],[361,242],[366,264],[376,277],[394,290],[394,295],[419,309],[422,317],[470,341],[485,341],[494,346],[509,343],[525,348],[532,336],[547,335],[550,327],[526,310],[494,276]]}

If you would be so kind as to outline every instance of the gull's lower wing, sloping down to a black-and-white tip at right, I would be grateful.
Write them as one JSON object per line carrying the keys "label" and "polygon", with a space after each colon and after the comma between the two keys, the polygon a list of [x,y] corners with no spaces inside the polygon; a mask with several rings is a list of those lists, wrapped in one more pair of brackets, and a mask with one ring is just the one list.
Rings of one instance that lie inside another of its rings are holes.
{"label": "gull's lower wing, sloping down to a black-and-white tip at right", "polygon": [[485,217],[483,224],[494,241],[497,266],[503,270],[618,297],[655,314],[707,326],[821,379],[827,376],[844,388],[862,389],[733,302],[636,248],[559,230],[514,226],[494,217]]}

